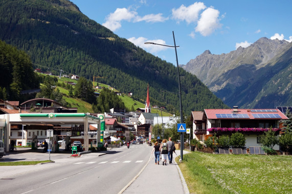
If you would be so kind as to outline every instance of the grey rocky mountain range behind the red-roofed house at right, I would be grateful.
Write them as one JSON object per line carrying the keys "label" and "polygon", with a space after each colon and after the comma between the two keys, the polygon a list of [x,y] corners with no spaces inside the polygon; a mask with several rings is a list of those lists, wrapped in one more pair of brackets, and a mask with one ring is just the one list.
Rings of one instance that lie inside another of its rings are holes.
{"label": "grey rocky mountain range behind the red-roofed house at right", "polygon": [[228,54],[214,55],[207,50],[181,67],[230,107],[292,105],[291,42],[263,37]]}

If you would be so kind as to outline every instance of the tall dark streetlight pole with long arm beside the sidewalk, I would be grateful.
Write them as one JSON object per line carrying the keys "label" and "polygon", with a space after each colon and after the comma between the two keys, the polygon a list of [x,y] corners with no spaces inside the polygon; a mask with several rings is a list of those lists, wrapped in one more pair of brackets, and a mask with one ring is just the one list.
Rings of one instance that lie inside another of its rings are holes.
{"label": "tall dark streetlight pole with long arm beside the sidewalk", "polygon": [[[181,91],[181,79],[179,78],[179,68],[178,68],[178,60],[177,60],[177,52],[176,52],[176,46],[175,45],[175,38],[174,38],[174,32],[172,31],[173,35],[173,42],[174,46],[171,45],[165,45],[165,44],[158,44],[154,42],[145,42],[144,44],[156,44],[156,45],[161,45],[161,46],[168,46],[168,47],[174,47],[175,50],[175,57],[176,57],[176,67],[177,67],[177,75],[178,75],[178,90],[179,90],[179,112],[181,113],[181,123],[184,123],[184,118],[183,118],[183,106],[182,106],[182,91]],[[181,132],[181,159],[183,160],[184,154],[184,132]]]}

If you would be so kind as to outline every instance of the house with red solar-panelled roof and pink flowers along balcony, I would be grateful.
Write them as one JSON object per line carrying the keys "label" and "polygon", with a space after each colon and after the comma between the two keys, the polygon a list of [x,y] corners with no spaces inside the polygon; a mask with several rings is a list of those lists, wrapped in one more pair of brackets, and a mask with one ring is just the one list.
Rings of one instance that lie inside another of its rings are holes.
{"label": "house with red solar-panelled roof and pink flowers along balcony", "polygon": [[[281,120],[288,119],[279,109],[205,109],[193,111],[193,137],[206,140],[217,136],[231,135],[236,131],[244,134],[245,146],[260,147],[260,136],[271,127],[278,134]],[[279,150],[279,146],[274,147]]]}

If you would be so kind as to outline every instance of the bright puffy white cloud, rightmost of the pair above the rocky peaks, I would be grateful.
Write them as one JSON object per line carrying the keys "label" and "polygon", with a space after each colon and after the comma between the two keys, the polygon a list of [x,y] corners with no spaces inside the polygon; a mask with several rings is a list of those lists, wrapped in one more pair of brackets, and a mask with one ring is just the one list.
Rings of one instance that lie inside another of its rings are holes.
{"label": "bright puffy white cloud, rightmost of the pair above the rocky peaks", "polygon": [[198,25],[195,28],[196,32],[199,32],[203,36],[210,35],[214,30],[221,27],[219,23],[220,19],[219,11],[213,8],[206,9],[201,13],[201,17],[198,20]]}

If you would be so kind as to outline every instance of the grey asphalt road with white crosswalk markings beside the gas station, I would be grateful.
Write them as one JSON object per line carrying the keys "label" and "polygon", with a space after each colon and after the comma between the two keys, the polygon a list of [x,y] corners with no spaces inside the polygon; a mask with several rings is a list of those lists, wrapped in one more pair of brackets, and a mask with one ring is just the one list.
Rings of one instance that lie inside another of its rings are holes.
{"label": "grey asphalt road with white crosswalk markings beside the gas station", "polygon": [[91,153],[69,158],[56,154],[51,156],[55,163],[0,166],[0,193],[118,193],[147,164],[151,149],[136,144],[103,156]]}

